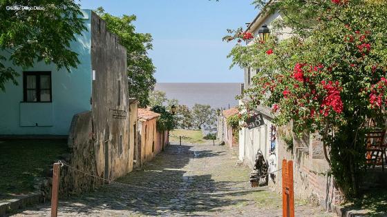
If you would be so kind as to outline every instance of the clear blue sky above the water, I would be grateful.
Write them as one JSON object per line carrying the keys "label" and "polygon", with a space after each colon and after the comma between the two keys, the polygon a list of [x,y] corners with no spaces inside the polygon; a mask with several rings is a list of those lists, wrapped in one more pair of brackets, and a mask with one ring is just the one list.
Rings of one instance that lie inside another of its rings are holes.
{"label": "clear blue sky above the water", "polygon": [[135,14],[137,32],[151,33],[149,56],[160,83],[243,82],[243,70],[227,54],[234,46],[227,29],[245,27],[258,10],[252,0],[81,0],[84,9],[102,6],[115,16]]}

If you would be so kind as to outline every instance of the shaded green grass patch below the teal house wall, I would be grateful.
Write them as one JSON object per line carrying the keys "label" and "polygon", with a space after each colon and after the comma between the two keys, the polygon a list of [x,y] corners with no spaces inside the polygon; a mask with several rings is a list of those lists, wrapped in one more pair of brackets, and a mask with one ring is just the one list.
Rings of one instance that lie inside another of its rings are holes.
{"label": "shaded green grass patch below the teal house wall", "polygon": [[35,177],[67,149],[63,139],[0,140],[0,200],[33,192]]}

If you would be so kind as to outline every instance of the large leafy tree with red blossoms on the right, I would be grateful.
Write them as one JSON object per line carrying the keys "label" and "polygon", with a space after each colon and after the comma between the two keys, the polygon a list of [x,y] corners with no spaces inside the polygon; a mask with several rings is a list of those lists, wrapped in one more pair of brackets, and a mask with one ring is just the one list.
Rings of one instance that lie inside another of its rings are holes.
{"label": "large leafy tree with red blossoms on the right", "polygon": [[[296,134],[319,132],[330,173],[352,196],[365,166],[367,120],[386,118],[387,3],[283,0],[263,10],[283,12],[270,40],[237,44],[229,54],[233,65],[260,69],[245,91],[251,100],[243,118],[263,104],[277,125],[292,121]],[[284,25],[292,34],[278,41]],[[227,41],[244,39],[241,30],[229,32]]]}

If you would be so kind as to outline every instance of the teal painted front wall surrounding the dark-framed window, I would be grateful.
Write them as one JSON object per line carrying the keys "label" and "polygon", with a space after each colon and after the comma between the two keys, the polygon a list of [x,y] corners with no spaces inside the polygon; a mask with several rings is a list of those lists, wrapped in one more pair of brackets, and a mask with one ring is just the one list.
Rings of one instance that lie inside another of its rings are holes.
{"label": "teal painted front wall surrounding the dark-framed window", "polygon": [[[81,63],[71,72],[44,62],[26,70],[10,62],[5,64],[20,76],[19,85],[7,83],[6,92],[0,90],[0,135],[68,135],[74,114],[91,110],[91,10],[83,10],[83,18],[88,31],[77,35],[70,44]],[[6,56],[6,52],[2,54]],[[52,103],[22,103],[23,71],[51,71]]]}

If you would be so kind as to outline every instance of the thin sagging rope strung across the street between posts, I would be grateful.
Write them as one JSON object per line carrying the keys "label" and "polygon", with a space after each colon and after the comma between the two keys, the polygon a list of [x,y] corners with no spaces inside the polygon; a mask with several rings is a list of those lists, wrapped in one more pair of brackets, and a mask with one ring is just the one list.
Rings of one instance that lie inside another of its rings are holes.
{"label": "thin sagging rope strung across the street between posts", "polygon": [[[68,167],[69,169],[72,169],[76,172],[80,172],[82,174],[85,174],[87,176],[91,176],[93,178],[97,178],[97,179],[100,179],[100,180],[103,180],[105,182],[108,182],[108,183],[115,183],[117,185],[124,185],[126,187],[134,187],[134,188],[138,188],[138,189],[150,189],[150,190],[155,190],[155,191],[168,191],[168,192],[185,192],[185,191],[189,191],[189,192],[207,192],[207,191],[214,191],[216,189],[218,190],[227,190],[227,191],[238,191],[238,190],[243,190],[243,189],[246,189],[245,187],[204,187],[204,188],[195,188],[195,189],[171,189],[171,188],[160,188],[160,187],[143,187],[143,186],[139,186],[139,185],[131,185],[131,184],[127,184],[127,183],[119,183],[119,182],[116,182],[115,180],[111,180],[111,179],[106,179],[106,178],[101,178],[100,176],[95,176],[94,174],[91,174],[89,172],[84,172],[83,170],[81,169],[77,169],[73,166],[70,166],[66,163],[63,163],[62,161],[58,161],[57,163],[59,163],[61,165],[61,167]],[[282,168],[281,168],[282,169]],[[264,174],[262,176],[259,176],[259,178],[264,178],[266,177],[267,175],[269,174],[274,174],[276,172],[279,172],[281,169],[277,169],[276,171],[274,172],[271,172],[271,173],[267,173],[267,174]],[[241,181],[241,182],[238,182],[238,183],[234,183],[234,185],[238,185],[238,184],[241,184],[241,183],[249,183],[249,180],[244,180],[244,181]]]}

